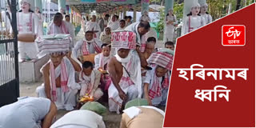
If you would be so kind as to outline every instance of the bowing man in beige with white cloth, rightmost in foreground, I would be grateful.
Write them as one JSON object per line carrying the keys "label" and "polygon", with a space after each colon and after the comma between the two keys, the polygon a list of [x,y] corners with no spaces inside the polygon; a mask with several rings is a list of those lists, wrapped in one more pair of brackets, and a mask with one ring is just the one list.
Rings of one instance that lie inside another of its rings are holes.
{"label": "bowing man in beige with white cloth, rightmost in foreground", "polygon": [[120,128],[162,128],[165,113],[154,106],[131,106],[123,110]]}

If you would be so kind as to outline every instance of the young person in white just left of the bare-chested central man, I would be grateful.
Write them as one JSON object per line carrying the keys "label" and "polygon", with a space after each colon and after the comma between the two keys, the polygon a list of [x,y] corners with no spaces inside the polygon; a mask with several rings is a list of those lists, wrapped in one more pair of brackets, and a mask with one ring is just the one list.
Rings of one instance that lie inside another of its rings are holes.
{"label": "young person in white just left of the bare-chested central man", "polygon": [[104,74],[103,72],[107,70],[107,64],[110,62],[110,45],[103,44],[102,45],[102,53],[97,54],[94,58],[95,66],[94,68],[96,70],[102,71],[101,75],[101,88],[102,90],[108,90],[111,78],[108,74]]}

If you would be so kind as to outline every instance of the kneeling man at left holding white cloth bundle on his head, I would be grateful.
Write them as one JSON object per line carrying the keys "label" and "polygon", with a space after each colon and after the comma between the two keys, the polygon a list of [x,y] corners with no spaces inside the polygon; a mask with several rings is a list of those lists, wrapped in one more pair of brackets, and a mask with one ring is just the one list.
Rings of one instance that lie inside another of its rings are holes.
{"label": "kneeling man at left holding white cloth bundle on his head", "polygon": [[[82,70],[75,58],[71,58],[70,41],[54,40],[47,42],[38,41],[39,54],[50,54],[49,62],[41,68],[44,78],[42,86],[38,86],[36,92],[39,97],[49,98],[59,109],[73,110],[76,106],[76,94],[80,85],[75,82],[75,71]],[[67,53],[68,52],[68,53]],[[66,54],[67,53],[67,54]]]}

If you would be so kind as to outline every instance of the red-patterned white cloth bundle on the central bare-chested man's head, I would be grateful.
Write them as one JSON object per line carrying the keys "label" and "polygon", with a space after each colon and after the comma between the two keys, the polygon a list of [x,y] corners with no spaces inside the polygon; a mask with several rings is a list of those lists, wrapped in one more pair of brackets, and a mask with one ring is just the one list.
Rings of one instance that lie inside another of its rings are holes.
{"label": "red-patterned white cloth bundle on the central bare-chested man's head", "polygon": [[136,48],[136,34],[127,30],[116,30],[111,34],[112,48],[125,48],[133,50]]}

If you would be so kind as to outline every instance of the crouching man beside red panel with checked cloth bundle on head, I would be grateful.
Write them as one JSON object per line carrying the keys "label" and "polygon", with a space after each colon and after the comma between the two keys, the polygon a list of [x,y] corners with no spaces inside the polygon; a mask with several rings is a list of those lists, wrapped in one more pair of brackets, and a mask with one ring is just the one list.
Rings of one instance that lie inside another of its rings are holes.
{"label": "crouching man beside red panel with checked cloth bundle on head", "polygon": [[[166,58],[166,59],[162,59]],[[173,63],[173,56],[170,53],[159,51],[148,59],[153,70],[146,72],[144,84],[144,97],[150,106],[166,105],[169,90],[170,72]]]}

